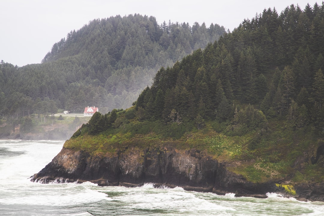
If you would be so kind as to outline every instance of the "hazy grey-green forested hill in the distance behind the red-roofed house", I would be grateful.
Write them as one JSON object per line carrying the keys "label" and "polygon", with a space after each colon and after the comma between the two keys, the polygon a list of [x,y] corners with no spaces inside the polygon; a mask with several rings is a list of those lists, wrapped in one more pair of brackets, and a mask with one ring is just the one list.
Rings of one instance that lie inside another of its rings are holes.
{"label": "hazy grey-green forested hill in the distance behind the red-roofed house", "polygon": [[1,62],[0,115],[128,108],[161,66],[224,33],[217,24],[158,24],[139,14],[92,20],[55,43],[41,64],[17,68]]}

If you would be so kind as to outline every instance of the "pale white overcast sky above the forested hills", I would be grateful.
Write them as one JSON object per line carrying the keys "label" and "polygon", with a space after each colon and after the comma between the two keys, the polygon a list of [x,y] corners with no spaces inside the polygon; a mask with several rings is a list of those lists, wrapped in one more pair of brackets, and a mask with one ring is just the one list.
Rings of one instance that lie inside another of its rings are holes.
{"label": "pale white overcast sky above the forested hills", "polygon": [[[263,9],[278,14],[291,4],[303,10],[316,0],[0,0],[0,60],[18,66],[41,63],[52,45],[95,18],[129,14],[154,16],[158,24],[205,22],[236,28]],[[321,4],[321,0],[317,1]]]}

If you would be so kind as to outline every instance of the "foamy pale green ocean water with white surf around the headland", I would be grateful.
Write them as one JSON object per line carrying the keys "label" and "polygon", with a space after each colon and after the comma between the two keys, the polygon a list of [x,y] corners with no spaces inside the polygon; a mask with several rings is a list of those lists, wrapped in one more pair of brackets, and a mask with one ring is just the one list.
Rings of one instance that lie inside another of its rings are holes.
{"label": "foamy pale green ocean water with white surf around the headland", "polygon": [[267,199],[182,188],[98,187],[29,181],[60,152],[63,141],[0,140],[0,216],[265,216],[324,215],[323,202],[300,202],[268,194]]}

